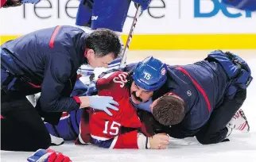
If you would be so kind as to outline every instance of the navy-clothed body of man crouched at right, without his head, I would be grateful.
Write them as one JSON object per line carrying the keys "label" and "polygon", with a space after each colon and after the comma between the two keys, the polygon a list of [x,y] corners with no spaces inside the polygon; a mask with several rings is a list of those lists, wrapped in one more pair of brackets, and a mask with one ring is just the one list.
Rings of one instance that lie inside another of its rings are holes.
{"label": "navy-clothed body of man crouched at right, without his head", "polygon": [[[134,65],[125,70],[131,71]],[[185,116],[179,124],[165,128],[165,133],[177,138],[196,136],[202,144],[223,141],[227,122],[242,106],[253,79],[246,62],[230,52],[214,51],[195,64],[168,68],[168,80],[154,92],[153,100],[171,92],[184,101]],[[138,108],[151,112],[150,104],[149,100]]]}

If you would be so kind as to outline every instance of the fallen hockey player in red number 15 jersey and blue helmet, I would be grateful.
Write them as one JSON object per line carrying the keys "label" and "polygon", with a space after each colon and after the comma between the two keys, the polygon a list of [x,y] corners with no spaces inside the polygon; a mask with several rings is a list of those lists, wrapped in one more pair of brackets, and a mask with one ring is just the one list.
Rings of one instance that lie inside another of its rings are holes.
{"label": "fallen hockey player in red number 15 jersey and blue helmet", "polygon": [[[157,91],[165,83],[167,68],[153,57],[146,58],[141,64],[145,66],[138,64],[138,68],[134,70],[141,71],[140,77],[137,76],[136,79],[135,72],[128,74],[123,71],[111,72],[99,78],[96,83],[98,94],[112,96],[118,102],[119,110],[111,110],[113,116],[103,111],[83,110],[76,144],[92,142],[103,148],[167,148],[169,137],[166,134],[150,137],[152,134],[145,130],[145,125],[138,118],[132,104],[146,102],[152,97],[153,91]],[[138,84],[145,84],[144,88],[148,88],[142,89]],[[137,91],[133,91],[134,89]]]}

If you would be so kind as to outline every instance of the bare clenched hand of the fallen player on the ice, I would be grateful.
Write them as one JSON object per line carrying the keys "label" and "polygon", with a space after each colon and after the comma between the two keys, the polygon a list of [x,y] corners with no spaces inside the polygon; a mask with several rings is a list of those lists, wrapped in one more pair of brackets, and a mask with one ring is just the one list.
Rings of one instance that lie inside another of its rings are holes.
{"label": "bare clenched hand of the fallen player on the ice", "polygon": [[165,133],[159,133],[149,137],[150,149],[165,149],[169,145],[169,136]]}

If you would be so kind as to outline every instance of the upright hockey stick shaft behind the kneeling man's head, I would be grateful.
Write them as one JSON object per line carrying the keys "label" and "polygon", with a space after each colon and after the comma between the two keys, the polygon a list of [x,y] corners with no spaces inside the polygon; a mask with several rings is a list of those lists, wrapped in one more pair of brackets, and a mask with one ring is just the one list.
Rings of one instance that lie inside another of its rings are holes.
{"label": "upright hockey stick shaft behind the kneeling man's head", "polygon": [[130,33],[129,33],[128,38],[126,40],[126,46],[125,46],[125,48],[123,49],[123,52],[122,52],[122,60],[121,60],[121,64],[120,64],[119,68],[125,68],[125,66],[126,66],[127,52],[128,52],[129,47],[130,47],[130,42],[133,39],[134,29],[135,29],[135,26],[137,24],[138,17],[140,15],[139,11],[141,10],[141,8],[142,7],[140,5],[137,5],[137,10],[136,10],[136,13],[134,15],[134,21],[133,21],[133,24],[130,27]]}

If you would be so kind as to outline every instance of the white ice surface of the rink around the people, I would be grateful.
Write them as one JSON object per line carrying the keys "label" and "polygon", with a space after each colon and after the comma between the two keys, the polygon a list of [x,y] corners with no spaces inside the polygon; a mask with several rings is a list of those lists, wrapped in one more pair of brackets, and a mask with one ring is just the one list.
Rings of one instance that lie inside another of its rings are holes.
{"label": "white ice surface of the rink around the people", "polygon": [[[210,51],[210,50],[209,50]],[[129,62],[142,60],[145,56],[153,55],[168,64],[190,64],[204,59],[209,51],[141,51],[130,52]],[[233,131],[229,142],[217,145],[200,145],[195,138],[184,140],[172,139],[168,149],[165,150],[111,150],[97,148],[93,145],[77,146],[72,142],[52,147],[71,157],[74,162],[233,162],[233,161],[256,161],[256,51],[234,51],[242,56],[250,65],[255,80],[248,88],[246,102],[242,106],[249,121],[250,133]],[[17,135],[18,136],[18,135]],[[1,151],[2,162],[23,162],[32,152],[6,152]]]}

